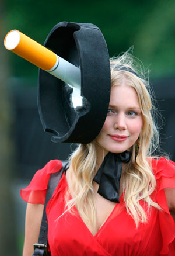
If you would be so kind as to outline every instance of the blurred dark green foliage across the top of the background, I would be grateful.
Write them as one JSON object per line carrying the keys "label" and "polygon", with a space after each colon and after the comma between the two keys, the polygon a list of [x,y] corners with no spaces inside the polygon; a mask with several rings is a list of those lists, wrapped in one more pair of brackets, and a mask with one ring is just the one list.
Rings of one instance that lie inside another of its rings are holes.
{"label": "blurred dark green foliage across the top of the background", "polygon": [[[110,57],[134,45],[134,55],[152,77],[173,75],[175,58],[175,2],[164,0],[46,1],[8,0],[6,33],[18,29],[38,43],[61,21],[94,23],[106,39]],[[35,79],[38,69],[15,54],[8,54],[12,75]]]}

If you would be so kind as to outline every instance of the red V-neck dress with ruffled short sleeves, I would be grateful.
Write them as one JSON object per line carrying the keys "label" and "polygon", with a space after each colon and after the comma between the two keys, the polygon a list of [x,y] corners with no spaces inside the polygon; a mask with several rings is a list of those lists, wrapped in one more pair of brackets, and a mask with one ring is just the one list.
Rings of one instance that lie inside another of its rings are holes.
{"label": "red V-neck dress with ruffled short sleeves", "polygon": [[[61,166],[60,160],[51,160],[43,169],[37,171],[29,186],[22,189],[22,198],[29,203],[44,204],[50,174],[61,169]],[[175,188],[175,164],[160,158],[152,160],[152,167],[157,186],[151,196],[163,210],[152,207],[148,223],[140,223],[136,229],[134,220],[125,208],[118,213],[124,203],[121,196],[120,203],[115,205],[95,236],[90,233],[76,208],[76,215],[64,213],[64,195],[68,184],[63,174],[47,205],[48,242],[52,256],[175,255],[175,223],[169,213],[163,190]],[[144,207],[143,202],[141,205]]]}

